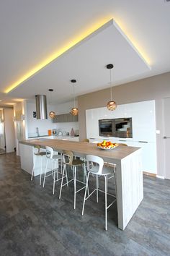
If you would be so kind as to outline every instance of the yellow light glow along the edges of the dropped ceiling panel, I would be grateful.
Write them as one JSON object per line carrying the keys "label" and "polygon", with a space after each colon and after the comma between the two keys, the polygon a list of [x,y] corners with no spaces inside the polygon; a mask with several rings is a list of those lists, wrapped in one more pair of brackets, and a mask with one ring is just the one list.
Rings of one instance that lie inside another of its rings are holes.
{"label": "yellow light glow along the edges of the dropped ceiling panel", "polygon": [[[50,62],[54,61],[55,59],[57,59],[59,56],[61,56],[62,54],[64,54],[66,51],[68,51],[69,49],[71,49],[73,46],[76,46],[76,44],[80,43],[82,40],[84,40],[85,38],[87,38],[89,35],[91,35],[92,33],[94,33],[96,30],[98,30],[100,27],[102,27],[103,25],[105,25],[107,22],[109,22],[112,20],[111,17],[107,17],[104,18],[103,20],[100,20],[99,22],[97,22],[96,24],[94,24],[92,27],[89,27],[86,31],[84,31],[84,33],[82,33],[81,35],[77,36],[76,38],[74,38],[73,40],[70,40],[69,43],[66,43],[65,46],[63,46],[63,48],[59,49],[57,52],[55,52],[53,55],[49,56],[47,59],[45,59],[44,61],[42,61],[40,64],[38,64],[36,67],[34,67],[33,69],[30,70],[30,72],[27,72],[26,74],[24,74],[21,78],[19,78],[19,80],[17,80],[16,82],[14,82],[12,85],[10,85],[8,88],[6,88],[6,90],[4,91],[4,93],[9,93],[10,91],[14,90],[14,88],[17,88],[17,86],[21,85],[22,82],[28,80],[30,77],[32,77],[32,75],[34,75],[35,73],[37,73],[38,71],[40,71],[40,69],[42,69],[43,67],[47,66],[48,64],[50,64]],[[112,20],[113,21],[113,20]],[[117,22],[116,22],[117,23]],[[118,23],[117,23],[118,24]],[[122,26],[118,25],[120,27],[120,29],[123,31],[123,33],[125,33],[122,29]],[[125,34],[126,35],[126,34]],[[137,43],[134,42],[134,40],[131,40],[130,36],[127,36],[127,38],[130,40],[130,43],[133,44],[133,46],[135,47],[135,49],[138,51],[138,53],[140,54],[140,56],[142,56],[143,60],[146,61],[146,64],[148,64],[148,66],[151,64],[151,61],[148,59],[148,57],[146,56],[146,54],[144,54],[141,50],[140,47],[137,45]]]}

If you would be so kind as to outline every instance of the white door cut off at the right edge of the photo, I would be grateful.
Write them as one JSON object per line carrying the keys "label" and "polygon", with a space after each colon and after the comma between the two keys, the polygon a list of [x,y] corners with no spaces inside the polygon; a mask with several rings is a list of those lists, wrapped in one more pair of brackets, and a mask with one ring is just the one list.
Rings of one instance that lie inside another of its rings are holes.
{"label": "white door cut off at the right edge of the photo", "polygon": [[170,98],[164,98],[164,176],[170,179]]}

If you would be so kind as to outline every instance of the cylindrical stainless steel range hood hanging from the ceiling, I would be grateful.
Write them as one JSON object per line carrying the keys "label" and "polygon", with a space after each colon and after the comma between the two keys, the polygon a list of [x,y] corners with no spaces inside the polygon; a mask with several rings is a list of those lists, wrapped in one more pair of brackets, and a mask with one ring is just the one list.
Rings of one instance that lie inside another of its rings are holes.
{"label": "cylindrical stainless steel range hood hanging from the ceiling", "polygon": [[46,95],[35,95],[37,119],[48,119]]}

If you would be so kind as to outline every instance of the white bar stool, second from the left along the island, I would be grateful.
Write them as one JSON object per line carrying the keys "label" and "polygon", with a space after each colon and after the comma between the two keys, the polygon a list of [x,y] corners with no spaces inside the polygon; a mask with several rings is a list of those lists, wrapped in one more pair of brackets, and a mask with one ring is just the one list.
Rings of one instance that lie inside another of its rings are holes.
{"label": "white bar stool, second from the left along the island", "polygon": [[[48,147],[46,146],[46,158],[47,158],[47,162],[46,162],[46,167],[45,167],[45,174],[44,174],[44,181],[43,181],[43,185],[42,187],[45,186],[45,178],[52,175],[53,176],[53,195],[54,195],[54,192],[55,192],[55,182],[58,182],[60,179],[58,179],[58,173],[62,173],[62,166],[63,166],[63,155],[58,155],[58,154],[55,154],[54,153],[54,150],[53,148],[51,147]],[[48,172],[48,162],[51,162],[51,168],[50,168],[50,171],[51,173],[46,175],[47,172]],[[61,163],[61,172],[58,171],[58,165],[59,165],[59,162]],[[54,164],[54,166],[53,166]],[[54,168],[53,168],[54,167]],[[55,180],[55,174],[57,174],[57,179]],[[67,175],[67,174],[66,174]],[[66,176],[66,179],[67,179],[67,176]]]}

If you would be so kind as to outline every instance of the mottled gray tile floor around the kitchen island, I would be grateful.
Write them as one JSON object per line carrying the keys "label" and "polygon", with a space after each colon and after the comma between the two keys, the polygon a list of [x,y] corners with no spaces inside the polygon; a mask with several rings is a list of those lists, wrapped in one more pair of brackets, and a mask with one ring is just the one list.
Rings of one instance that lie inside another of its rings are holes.
{"label": "mottled gray tile floor around the kitchen island", "polygon": [[170,255],[170,181],[144,176],[143,202],[125,231],[117,229],[116,205],[104,231],[103,195],[81,216],[84,191],[73,210],[73,185],[58,200],[51,177],[44,189],[38,182],[19,157],[0,155],[0,255]]}

